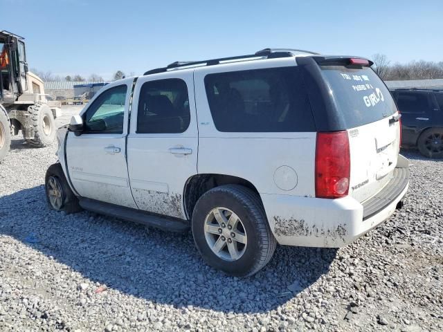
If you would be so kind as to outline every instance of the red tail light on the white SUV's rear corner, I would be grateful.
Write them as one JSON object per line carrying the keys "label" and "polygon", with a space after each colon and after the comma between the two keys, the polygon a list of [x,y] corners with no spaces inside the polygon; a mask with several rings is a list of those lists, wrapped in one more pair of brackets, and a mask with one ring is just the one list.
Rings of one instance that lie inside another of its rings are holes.
{"label": "red tail light on the white SUV's rear corner", "polygon": [[347,196],[350,163],[347,131],[317,133],[316,197],[338,199]]}

